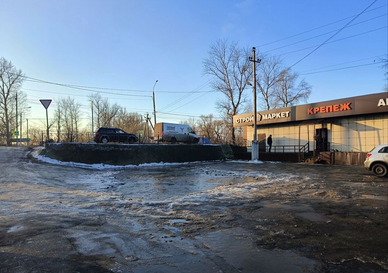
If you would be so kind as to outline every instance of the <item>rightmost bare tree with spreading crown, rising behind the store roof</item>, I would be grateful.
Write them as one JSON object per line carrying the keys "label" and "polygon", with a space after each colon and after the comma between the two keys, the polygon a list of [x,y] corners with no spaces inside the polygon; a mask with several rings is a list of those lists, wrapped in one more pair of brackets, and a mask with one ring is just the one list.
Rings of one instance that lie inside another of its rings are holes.
{"label": "rightmost bare tree with spreading crown, rising behind the store roof", "polygon": [[290,68],[284,70],[274,86],[275,107],[288,107],[299,102],[307,102],[310,97],[312,86],[303,78],[299,83],[298,73]]}

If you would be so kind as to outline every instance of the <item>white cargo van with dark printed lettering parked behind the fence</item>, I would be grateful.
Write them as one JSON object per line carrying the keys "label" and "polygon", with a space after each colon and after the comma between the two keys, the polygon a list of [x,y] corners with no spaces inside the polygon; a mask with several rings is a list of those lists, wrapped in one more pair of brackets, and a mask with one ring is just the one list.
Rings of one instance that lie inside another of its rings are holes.
{"label": "white cargo van with dark printed lettering parked behind the fence", "polygon": [[154,138],[161,142],[198,143],[199,135],[189,125],[160,122],[155,124]]}

